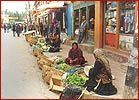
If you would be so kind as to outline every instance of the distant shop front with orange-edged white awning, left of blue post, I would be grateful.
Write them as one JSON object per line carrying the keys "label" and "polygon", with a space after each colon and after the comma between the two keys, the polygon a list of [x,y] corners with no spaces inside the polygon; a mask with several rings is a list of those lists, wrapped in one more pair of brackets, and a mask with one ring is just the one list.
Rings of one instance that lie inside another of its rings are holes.
{"label": "distant shop front with orange-edged white awning, left of blue post", "polygon": [[49,4],[43,4],[33,11],[33,15],[36,15],[36,20],[34,21],[38,24],[46,22],[48,27],[50,27],[53,22],[57,22],[59,24],[60,31],[67,28],[65,20],[66,6],[64,5],[64,1],[52,1]]}

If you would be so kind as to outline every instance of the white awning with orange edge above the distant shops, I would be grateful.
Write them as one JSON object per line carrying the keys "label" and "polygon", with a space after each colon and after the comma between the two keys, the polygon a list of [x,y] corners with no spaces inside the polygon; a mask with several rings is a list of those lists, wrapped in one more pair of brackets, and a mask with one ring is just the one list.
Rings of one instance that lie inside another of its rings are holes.
{"label": "white awning with orange edge above the distant shops", "polygon": [[49,4],[44,4],[42,6],[39,6],[37,10],[32,10],[32,14],[38,14],[40,12],[49,10],[49,9],[55,9],[55,8],[63,8],[64,7],[64,1],[51,1]]}

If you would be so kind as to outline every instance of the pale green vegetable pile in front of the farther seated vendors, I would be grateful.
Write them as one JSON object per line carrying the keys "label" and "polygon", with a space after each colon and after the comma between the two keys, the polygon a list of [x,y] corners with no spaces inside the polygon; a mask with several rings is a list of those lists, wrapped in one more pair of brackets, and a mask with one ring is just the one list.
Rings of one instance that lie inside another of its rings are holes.
{"label": "pale green vegetable pile in front of the farther seated vendors", "polygon": [[49,51],[51,45],[46,44],[45,40],[43,38],[39,38],[36,46],[40,49],[42,49],[43,51]]}

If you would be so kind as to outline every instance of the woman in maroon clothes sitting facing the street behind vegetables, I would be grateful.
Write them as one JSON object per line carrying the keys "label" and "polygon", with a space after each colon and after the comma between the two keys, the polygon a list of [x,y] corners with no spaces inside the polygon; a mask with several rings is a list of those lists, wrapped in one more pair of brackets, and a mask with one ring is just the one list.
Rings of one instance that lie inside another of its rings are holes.
{"label": "woman in maroon clothes sitting facing the street behind vegetables", "polygon": [[76,42],[72,43],[72,48],[69,51],[68,58],[65,59],[67,64],[82,65],[84,64],[85,58],[83,57],[82,50],[78,47]]}

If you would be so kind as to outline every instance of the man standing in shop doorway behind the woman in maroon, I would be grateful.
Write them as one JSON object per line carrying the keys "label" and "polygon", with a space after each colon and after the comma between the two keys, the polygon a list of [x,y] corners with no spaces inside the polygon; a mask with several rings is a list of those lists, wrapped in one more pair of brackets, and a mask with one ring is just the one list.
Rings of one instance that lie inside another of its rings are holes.
{"label": "man standing in shop doorway behind the woman in maroon", "polygon": [[78,44],[80,44],[84,38],[85,32],[86,32],[86,25],[87,21],[85,19],[85,16],[82,16],[82,23],[79,29],[79,38],[78,38]]}

